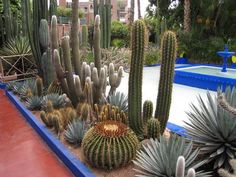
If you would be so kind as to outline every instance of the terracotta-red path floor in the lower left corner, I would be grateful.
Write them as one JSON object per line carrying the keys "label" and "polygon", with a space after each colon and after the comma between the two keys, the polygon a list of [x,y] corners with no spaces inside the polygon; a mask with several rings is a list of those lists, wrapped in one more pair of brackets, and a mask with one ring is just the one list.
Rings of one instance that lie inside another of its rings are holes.
{"label": "terracotta-red path floor in the lower left corner", "polygon": [[0,89],[0,177],[69,177],[57,159]]}

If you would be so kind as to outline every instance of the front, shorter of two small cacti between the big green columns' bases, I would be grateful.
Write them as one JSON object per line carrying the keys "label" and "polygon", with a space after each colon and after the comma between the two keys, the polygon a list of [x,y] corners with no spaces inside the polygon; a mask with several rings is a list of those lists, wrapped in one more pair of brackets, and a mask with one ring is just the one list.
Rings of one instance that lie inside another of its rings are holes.
{"label": "front, shorter of two small cacti between the big green columns' bases", "polygon": [[160,135],[160,122],[155,118],[149,119],[147,121],[147,137],[155,139]]}

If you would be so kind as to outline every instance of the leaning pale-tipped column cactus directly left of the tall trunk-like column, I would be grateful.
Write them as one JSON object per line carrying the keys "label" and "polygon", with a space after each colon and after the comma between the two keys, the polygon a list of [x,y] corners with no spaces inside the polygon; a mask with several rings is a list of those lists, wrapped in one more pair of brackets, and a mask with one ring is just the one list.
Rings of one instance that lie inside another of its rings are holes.
{"label": "leaning pale-tipped column cactus directly left of the tall trunk-like column", "polygon": [[71,55],[70,55],[70,39],[69,36],[64,36],[61,42],[63,60],[65,62],[66,80],[69,88],[69,98],[72,104],[76,107],[78,100],[75,92],[74,76],[71,65]]}

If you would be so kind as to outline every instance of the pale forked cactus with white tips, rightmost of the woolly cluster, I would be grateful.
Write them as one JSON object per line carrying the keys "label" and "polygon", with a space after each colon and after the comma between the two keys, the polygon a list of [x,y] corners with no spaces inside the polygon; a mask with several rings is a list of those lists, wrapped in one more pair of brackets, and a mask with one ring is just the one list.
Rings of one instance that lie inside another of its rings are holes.
{"label": "pale forked cactus with white tips, rightmost of the woolly cluster", "polygon": [[109,75],[109,84],[111,86],[111,89],[109,91],[109,95],[112,95],[115,93],[116,88],[119,87],[120,82],[121,82],[121,78],[123,75],[123,67],[120,66],[118,69],[118,72],[115,73],[115,69],[114,69],[114,64],[110,63],[109,64],[109,68],[108,68],[108,75]]}

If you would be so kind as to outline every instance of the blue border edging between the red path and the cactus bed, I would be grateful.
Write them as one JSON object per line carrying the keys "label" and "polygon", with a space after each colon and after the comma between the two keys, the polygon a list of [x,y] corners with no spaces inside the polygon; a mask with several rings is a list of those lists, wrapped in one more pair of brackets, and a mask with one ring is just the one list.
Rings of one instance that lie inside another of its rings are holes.
{"label": "blue border edging between the red path and the cactus bed", "polygon": [[[0,85],[1,87],[1,85]],[[95,177],[95,175],[75,157],[24,105],[13,95],[6,91],[6,95],[17,107],[29,124],[43,138],[48,146],[57,154],[61,161],[71,170],[76,177]]]}

